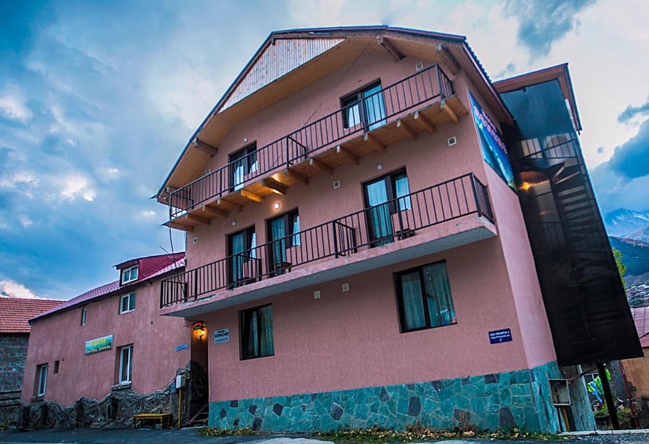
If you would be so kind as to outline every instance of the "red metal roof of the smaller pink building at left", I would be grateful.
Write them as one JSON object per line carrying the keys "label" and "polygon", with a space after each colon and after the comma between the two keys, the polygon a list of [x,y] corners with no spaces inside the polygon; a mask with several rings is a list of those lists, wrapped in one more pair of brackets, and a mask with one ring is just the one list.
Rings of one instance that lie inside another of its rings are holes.
{"label": "red metal roof of the smaller pink building at left", "polygon": [[[164,258],[164,261],[161,260],[161,258]],[[144,269],[144,271],[138,273],[137,281],[123,286],[119,285],[119,281],[114,281],[106,285],[98,286],[97,288],[93,288],[92,290],[82,293],[75,298],[65,301],[57,307],[53,307],[52,309],[42,312],[38,314],[38,316],[33,316],[29,319],[29,322],[31,323],[32,321],[40,320],[41,318],[45,318],[45,316],[49,316],[51,314],[67,311],[81,307],[83,305],[88,305],[91,302],[99,301],[104,298],[110,298],[110,296],[124,294],[125,292],[132,291],[138,288],[138,286],[140,286],[143,281],[148,281],[149,279],[164,275],[177,268],[184,267],[185,253],[175,253],[173,255],[173,258],[171,257],[171,255],[142,257],[138,259],[131,259],[129,261],[126,261],[126,263],[130,261],[140,261],[140,266],[142,266]]]}

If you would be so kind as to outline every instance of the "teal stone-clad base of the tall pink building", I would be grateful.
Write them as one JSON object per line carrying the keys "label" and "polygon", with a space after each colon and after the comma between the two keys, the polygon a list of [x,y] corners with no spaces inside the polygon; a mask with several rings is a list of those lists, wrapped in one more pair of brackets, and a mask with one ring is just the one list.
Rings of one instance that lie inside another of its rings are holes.
{"label": "teal stone-clad base of the tall pink building", "polygon": [[210,403],[209,425],[267,432],[343,428],[405,429],[524,427],[556,432],[559,420],[548,378],[560,378],[556,361],[534,369],[458,379],[415,382]]}

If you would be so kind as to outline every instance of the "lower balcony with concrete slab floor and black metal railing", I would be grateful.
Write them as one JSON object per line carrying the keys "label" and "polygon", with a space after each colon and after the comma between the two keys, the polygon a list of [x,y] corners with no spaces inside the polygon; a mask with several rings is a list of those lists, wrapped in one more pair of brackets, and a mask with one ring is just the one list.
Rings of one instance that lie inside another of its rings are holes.
{"label": "lower balcony with concrete slab floor and black metal railing", "polygon": [[191,316],[447,250],[495,236],[493,217],[465,174],[164,279],[160,307]]}

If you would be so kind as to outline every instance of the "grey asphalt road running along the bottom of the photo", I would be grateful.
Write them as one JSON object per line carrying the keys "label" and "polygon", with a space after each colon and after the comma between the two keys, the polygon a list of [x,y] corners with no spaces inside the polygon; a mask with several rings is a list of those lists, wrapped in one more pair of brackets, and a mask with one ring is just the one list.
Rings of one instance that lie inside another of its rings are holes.
{"label": "grey asphalt road running along the bottom of the photo", "polygon": [[[193,429],[153,430],[125,428],[103,430],[80,428],[76,430],[47,429],[32,432],[5,430],[0,432],[0,444],[331,444],[328,441],[295,435],[232,436],[227,438],[202,438]],[[467,439],[444,441],[445,444],[511,444],[512,441]],[[518,444],[538,444],[541,441],[515,441]],[[546,441],[552,442],[552,441]],[[560,442],[560,441],[559,441]],[[572,444],[649,444],[649,432],[633,434],[606,434],[597,436],[570,436],[564,442]]]}

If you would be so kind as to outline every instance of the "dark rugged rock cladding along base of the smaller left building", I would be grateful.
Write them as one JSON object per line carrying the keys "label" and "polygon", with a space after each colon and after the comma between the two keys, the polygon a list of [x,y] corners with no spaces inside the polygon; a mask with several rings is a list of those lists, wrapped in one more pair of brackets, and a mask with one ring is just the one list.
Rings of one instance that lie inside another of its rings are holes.
{"label": "dark rugged rock cladding along base of the smaller left building", "polygon": [[[188,376],[187,388],[182,396],[182,421],[193,415],[195,399],[204,397],[207,390],[205,370],[194,362],[178,369],[177,375]],[[188,393],[188,395],[186,394]],[[129,385],[113,386],[103,399],[80,397],[71,406],[56,401],[36,401],[24,405],[19,414],[18,428],[121,428],[132,426],[133,415],[140,413],[170,413],[172,424],[178,421],[178,394],[175,380],[162,390],[140,394]]]}

